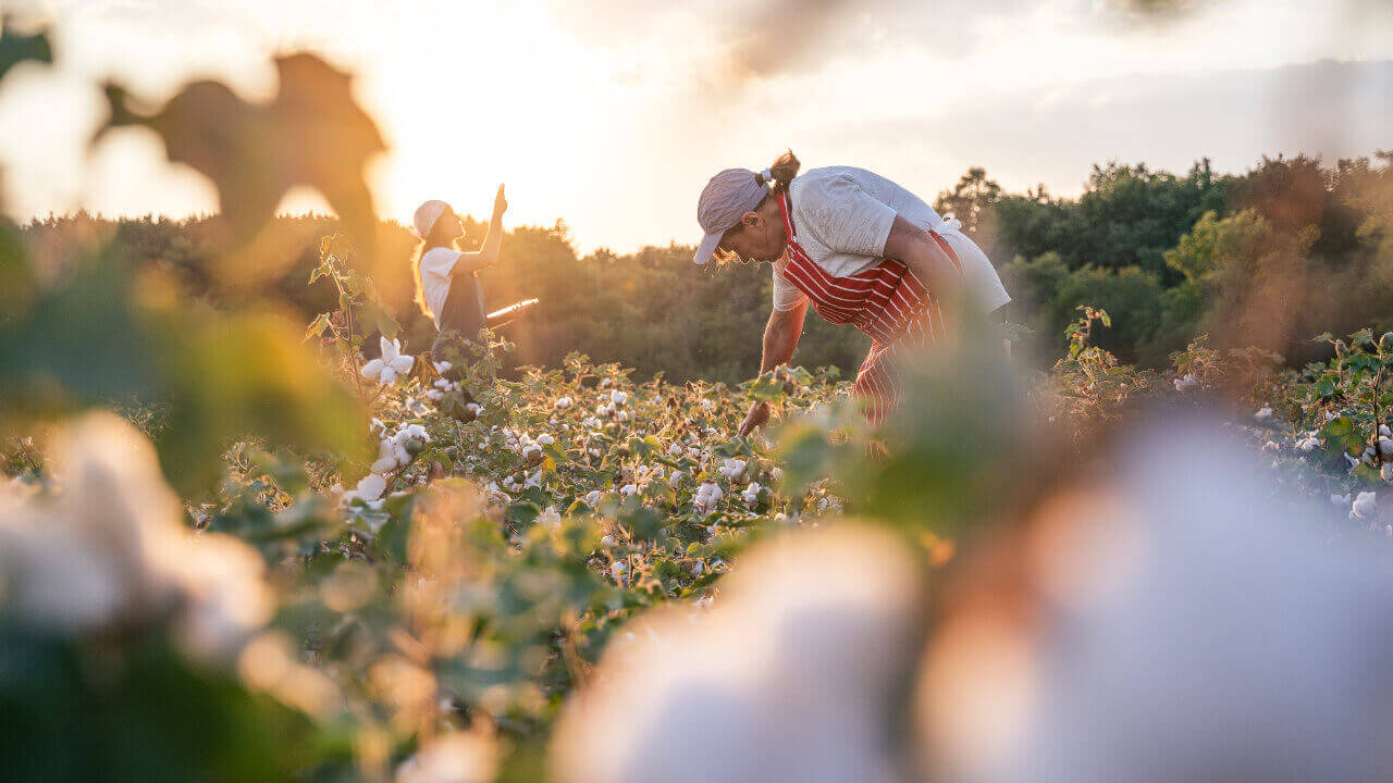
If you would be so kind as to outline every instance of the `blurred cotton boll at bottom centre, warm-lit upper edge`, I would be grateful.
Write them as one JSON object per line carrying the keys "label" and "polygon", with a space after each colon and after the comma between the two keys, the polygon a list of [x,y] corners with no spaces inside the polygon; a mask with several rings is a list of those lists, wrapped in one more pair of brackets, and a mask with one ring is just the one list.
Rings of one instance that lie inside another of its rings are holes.
{"label": "blurred cotton boll at bottom centre, warm-lit upper edge", "polygon": [[561,783],[901,780],[922,600],[887,532],[770,539],[708,612],[659,609],[610,642],[563,712],[552,769]]}

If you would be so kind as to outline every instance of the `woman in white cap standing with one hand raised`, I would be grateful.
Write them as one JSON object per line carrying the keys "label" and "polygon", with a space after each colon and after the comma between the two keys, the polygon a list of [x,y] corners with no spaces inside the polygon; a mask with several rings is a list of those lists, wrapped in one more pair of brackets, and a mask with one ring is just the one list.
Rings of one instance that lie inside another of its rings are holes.
{"label": "woman in white cap standing with one hand raised", "polygon": [[478,340],[486,325],[483,287],[476,273],[499,261],[503,242],[503,213],[508,202],[503,185],[493,199],[493,217],[478,251],[460,251],[456,242],[464,237],[458,215],[443,201],[428,201],[417,208],[412,228],[421,238],[411,273],[417,286],[417,307],[436,325],[436,341],[430,348],[437,354],[442,337],[457,332],[465,340]]}

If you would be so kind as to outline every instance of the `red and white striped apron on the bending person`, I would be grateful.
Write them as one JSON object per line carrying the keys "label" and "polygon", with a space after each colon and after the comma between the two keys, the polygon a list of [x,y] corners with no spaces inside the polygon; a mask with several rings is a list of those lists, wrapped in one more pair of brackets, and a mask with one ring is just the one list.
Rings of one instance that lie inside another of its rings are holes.
{"label": "red and white striped apron on the bending person", "polygon": [[[798,244],[788,213],[788,194],[779,194],[788,237],[788,263],[781,274],[808,295],[812,309],[830,323],[853,325],[871,337],[871,352],[861,362],[854,390],[866,404],[866,418],[879,426],[898,404],[903,382],[897,354],[937,343],[947,333],[943,311],[908,268],[893,259],[846,277],[833,277]],[[929,235],[963,272],[953,247],[936,231]]]}

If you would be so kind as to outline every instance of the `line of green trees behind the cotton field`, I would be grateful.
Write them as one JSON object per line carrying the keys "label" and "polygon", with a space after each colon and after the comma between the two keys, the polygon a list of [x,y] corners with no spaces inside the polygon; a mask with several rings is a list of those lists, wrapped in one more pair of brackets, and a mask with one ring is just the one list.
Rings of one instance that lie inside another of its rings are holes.
{"label": "line of green trees behind the cotton field", "polygon": [[[935,206],[956,213],[999,265],[1015,300],[1006,315],[1032,330],[1045,357],[1057,352],[1080,304],[1106,308],[1113,329],[1103,344],[1146,365],[1166,364],[1198,332],[1219,346],[1261,344],[1301,361],[1315,333],[1393,326],[1389,153],[1333,167],[1263,159],[1244,174],[1215,173],[1208,162],[1183,176],[1098,166],[1077,199],[1009,194],[974,169]],[[482,238],[482,224],[468,228],[472,241]],[[334,305],[332,286],[305,281],[320,237],[336,230],[332,217],[277,217],[231,270],[217,217],[75,215],[32,222],[24,235],[49,274],[72,263],[74,248],[107,245],[180,280],[191,307],[281,302],[308,320]],[[396,223],[379,230],[375,279],[419,350],[433,332],[411,304],[414,237]],[[520,364],[554,366],[579,350],[644,376],[731,383],[759,366],[768,268],[695,268],[681,245],[579,256],[559,222],[510,231],[503,261],[482,280],[490,308],[542,300],[507,327]],[[850,373],[865,347],[853,330],[811,316],[795,361]]]}

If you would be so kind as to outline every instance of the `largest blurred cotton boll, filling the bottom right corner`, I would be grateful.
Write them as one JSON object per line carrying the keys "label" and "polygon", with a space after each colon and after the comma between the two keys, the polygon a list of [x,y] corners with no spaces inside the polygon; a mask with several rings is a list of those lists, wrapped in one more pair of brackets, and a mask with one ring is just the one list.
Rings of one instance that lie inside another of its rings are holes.
{"label": "largest blurred cotton boll, filling the bottom right corner", "polygon": [[1393,577],[1212,421],[1119,442],[1149,447],[946,588],[917,697],[932,777],[1393,779]]}

